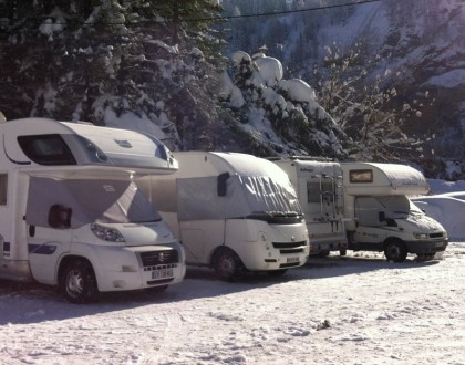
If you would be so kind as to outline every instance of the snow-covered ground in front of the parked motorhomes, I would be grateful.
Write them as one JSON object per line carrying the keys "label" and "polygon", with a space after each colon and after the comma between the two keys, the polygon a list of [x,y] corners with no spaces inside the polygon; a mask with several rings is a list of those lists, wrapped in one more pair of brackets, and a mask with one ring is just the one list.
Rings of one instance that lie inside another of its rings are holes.
{"label": "snow-covered ground in front of the parked motorhomes", "polygon": [[464,268],[465,242],[428,262],[349,252],[238,283],[189,268],[166,292],[90,305],[0,281],[0,363],[465,364]]}

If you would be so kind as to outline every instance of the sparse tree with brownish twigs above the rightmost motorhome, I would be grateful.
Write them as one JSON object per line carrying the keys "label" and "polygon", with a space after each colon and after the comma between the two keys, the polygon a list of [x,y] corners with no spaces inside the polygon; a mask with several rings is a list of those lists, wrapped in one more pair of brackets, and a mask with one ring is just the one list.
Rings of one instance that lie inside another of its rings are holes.
{"label": "sparse tree with brownish twigs above the rightmost motorhome", "polygon": [[363,54],[363,44],[345,53],[339,44],[327,48],[323,64],[313,74],[321,105],[351,138],[352,157],[378,161],[416,158],[422,154],[421,142],[407,136],[404,127],[420,123],[423,103],[428,101],[400,97],[392,85],[401,74],[385,70],[373,75]]}

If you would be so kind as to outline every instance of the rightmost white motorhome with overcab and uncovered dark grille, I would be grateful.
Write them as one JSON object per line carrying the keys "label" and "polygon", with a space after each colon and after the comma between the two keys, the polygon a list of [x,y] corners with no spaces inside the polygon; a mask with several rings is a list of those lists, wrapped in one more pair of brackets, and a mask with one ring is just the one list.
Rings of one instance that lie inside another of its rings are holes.
{"label": "rightmost white motorhome with overcab and uncovered dark grille", "polygon": [[446,249],[445,229],[409,199],[428,191],[422,173],[399,164],[341,168],[350,250],[384,251],[388,260],[402,262],[407,253],[431,259]]}

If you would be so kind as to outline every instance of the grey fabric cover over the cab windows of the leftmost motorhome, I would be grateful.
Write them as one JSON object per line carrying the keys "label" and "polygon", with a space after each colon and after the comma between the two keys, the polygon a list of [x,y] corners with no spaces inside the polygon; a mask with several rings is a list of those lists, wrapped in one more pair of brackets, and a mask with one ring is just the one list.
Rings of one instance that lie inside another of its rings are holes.
{"label": "grey fabric cover over the cab windows of the leftmost motorhome", "polygon": [[50,208],[56,205],[71,208],[72,228],[91,222],[126,223],[161,220],[158,212],[132,181],[54,180],[31,177],[27,207],[28,223],[48,227]]}

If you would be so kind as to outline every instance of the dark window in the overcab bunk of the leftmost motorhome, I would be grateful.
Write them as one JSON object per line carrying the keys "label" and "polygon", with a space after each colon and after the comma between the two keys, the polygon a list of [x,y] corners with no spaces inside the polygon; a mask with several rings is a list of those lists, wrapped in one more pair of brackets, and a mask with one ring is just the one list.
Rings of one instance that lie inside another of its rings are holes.
{"label": "dark window in the overcab bunk of the leftmost motorhome", "polygon": [[76,165],[73,154],[58,134],[20,136],[18,143],[22,152],[40,165]]}

